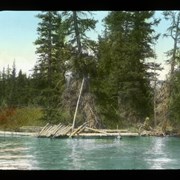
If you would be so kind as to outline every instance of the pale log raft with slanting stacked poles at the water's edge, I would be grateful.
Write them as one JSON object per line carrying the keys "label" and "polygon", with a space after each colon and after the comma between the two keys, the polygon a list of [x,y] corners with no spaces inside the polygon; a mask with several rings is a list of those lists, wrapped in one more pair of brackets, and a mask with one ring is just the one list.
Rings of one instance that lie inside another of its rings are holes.
{"label": "pale log raft with slanting stacked poles at the water's edge", "polygon": [[37,137],[51,138],[107,138],[122,136],[139,136],[138,133],[130,133],[128,130],[110,130],[110,129],[94,129],[87,127],[87,123],[82,124],[78,128],[72,128],[71,125],[50,125],[46,124],[38,133]]}

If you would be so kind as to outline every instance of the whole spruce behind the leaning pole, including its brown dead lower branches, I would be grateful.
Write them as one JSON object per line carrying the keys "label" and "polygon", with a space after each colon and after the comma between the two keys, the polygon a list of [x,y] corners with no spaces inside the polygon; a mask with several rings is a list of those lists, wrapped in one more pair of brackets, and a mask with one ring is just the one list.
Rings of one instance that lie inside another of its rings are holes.
{"label": "whole spruce behind the leaning pole, including its brown dead lower branches", "polygon": [[[96,66],[95,49],[96,42],[87,37],[87,32],[95,29],[96,20],[88,17],[85,11],[65,11],[62,13],[65,24],[68,28],[67,44],[71,47],[71,71],[74,73],[74,83],[71,83],[70,91],[66,92],[68,102],[71,108],[71,119],[73,111],[78,109],[77,98],[79,95],[80,83],[84,79],[83,94],[81,96],[80,107],[81,114],[78,114],[77,124],[82,121],[89,122],[89,126],[97,127],[98,120],[94,109],[94,97],[90,93],[89,79],[93,77]],[[74,85],[76,84],[76,85]],[[69,94],[69,95],[68,95]],[[92,112],[89,112],[90,109]],[[76,114],[76,113],[75,113]],[[93,115],[92,115],[93,114]],[[74,115],[73,126],[75,122]]]}

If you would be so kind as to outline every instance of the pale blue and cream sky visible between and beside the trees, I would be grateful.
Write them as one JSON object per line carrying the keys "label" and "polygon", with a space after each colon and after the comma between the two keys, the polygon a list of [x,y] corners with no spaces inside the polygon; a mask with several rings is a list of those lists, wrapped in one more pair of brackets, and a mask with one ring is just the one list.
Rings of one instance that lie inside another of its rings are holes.
{"label": "pale blue and cream sky visible between and beside the trees", "polygon": [[[12,67],[15,60],[17,71],[22,69],[27,74],[36,64],[36,46],[33,42],[37,39],[37,27],[39,19],[35,17],[40,11],[0,11],[0,71],[3,67]],[[161,16],[161,11],[156,12],[156,17]],[[94,11],[94,19],[99,20],[96,31],[89,33],[89,36],[97,38],[103,30],[102,19],[108,14],[107,11]],[[169,23],[161,20],[156,28],[157,32],[165,33]],[[157,62],[163,63],[166,59],[164,52],[173,48],[171,39],[160,36],[157,45],[154,47],[157,53]],[[165,66],[167,72],[168,66]],[[160,79],[164,79],[165,71],[161,73]]]}

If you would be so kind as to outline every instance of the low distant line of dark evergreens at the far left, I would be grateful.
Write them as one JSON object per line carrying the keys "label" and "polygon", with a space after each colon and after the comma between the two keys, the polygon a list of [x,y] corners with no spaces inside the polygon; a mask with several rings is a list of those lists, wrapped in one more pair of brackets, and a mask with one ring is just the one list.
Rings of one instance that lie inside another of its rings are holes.
{"label": "low distant line of dark evergreens at the far left", "polygon": [[15,62],[12,70],[3,69],[0,81],[0,106],[26,106],[30,103],[31,92],[29,90],[30,79],[20,70],[16,74]]}

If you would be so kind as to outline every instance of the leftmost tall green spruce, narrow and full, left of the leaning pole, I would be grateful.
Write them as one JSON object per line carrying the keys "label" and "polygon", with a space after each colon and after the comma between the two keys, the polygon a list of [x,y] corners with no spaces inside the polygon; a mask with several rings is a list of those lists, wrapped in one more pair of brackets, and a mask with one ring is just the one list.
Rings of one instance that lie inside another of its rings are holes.
{"label": "leftmost tall green spruce, narrow and full, left of the leaning pole", "polygon": [[[61,32],[62,20],[56,11],[42,12],[37,17],[39,22],[36,53],[39,60],[33,74],[37,79],[35,85],[39,89],[39,103],[44,106],[44,119],[48,122],[58,121],[58,103],[63,85],[63,65],[61,50],[64,35]],[[59,83],[61,82],[61,83]]]}

